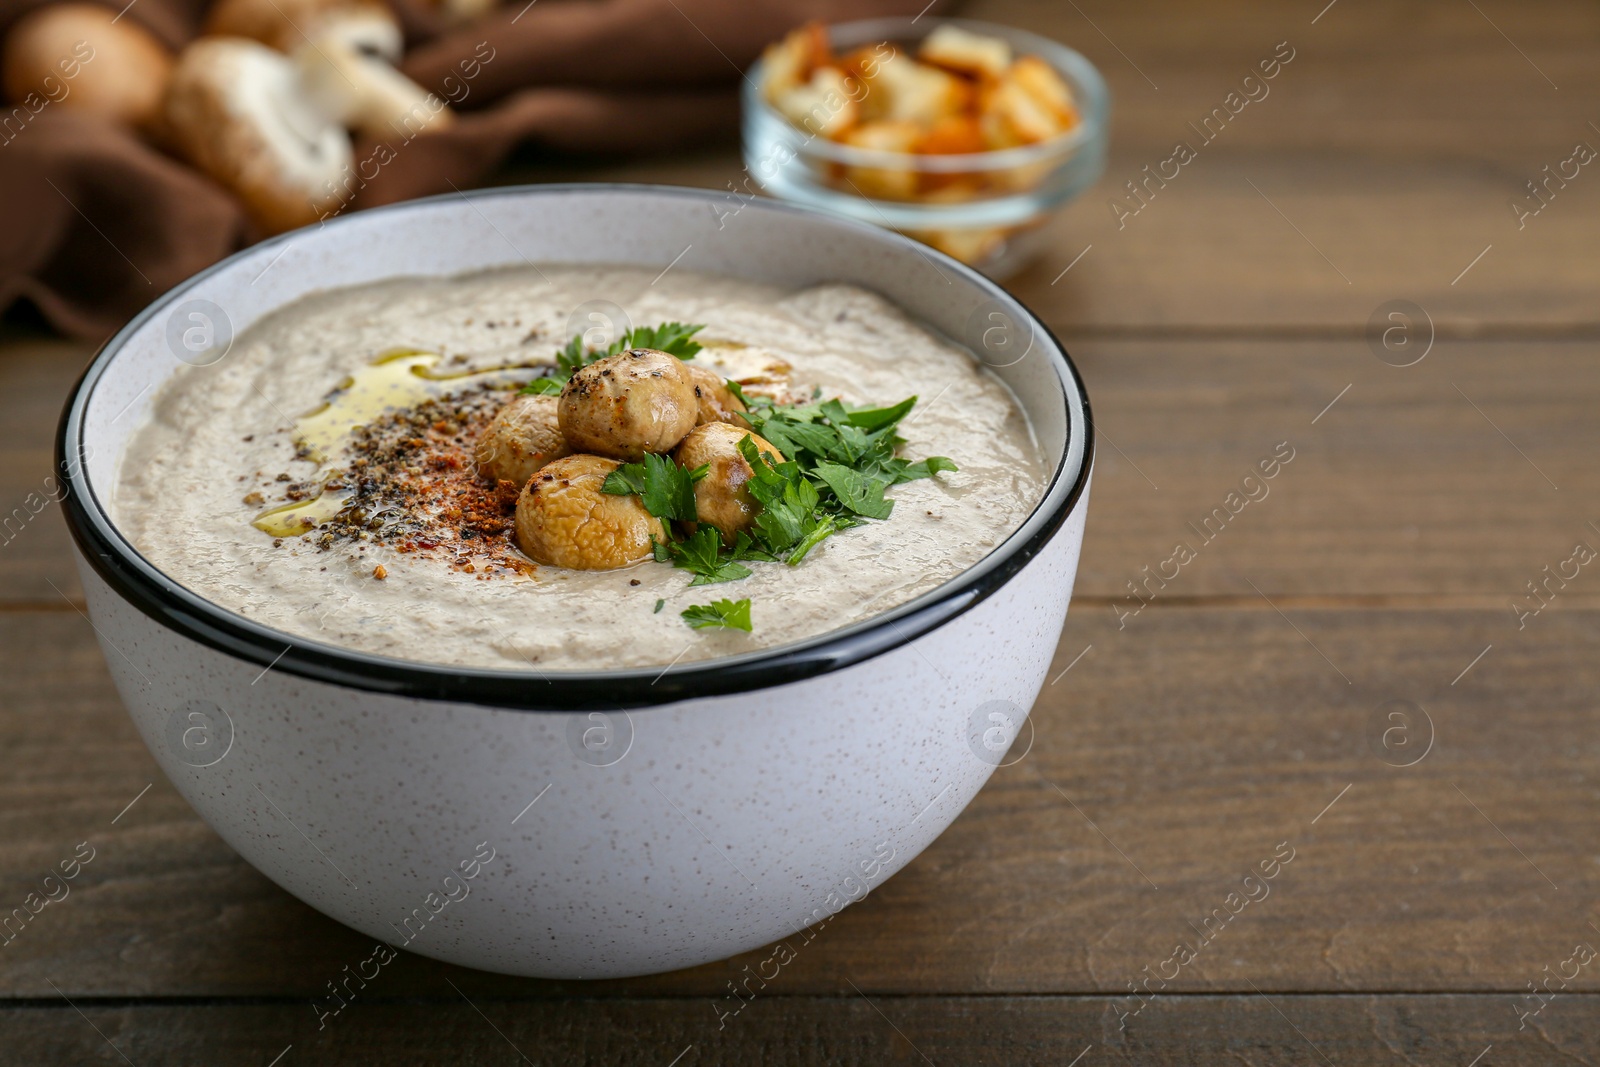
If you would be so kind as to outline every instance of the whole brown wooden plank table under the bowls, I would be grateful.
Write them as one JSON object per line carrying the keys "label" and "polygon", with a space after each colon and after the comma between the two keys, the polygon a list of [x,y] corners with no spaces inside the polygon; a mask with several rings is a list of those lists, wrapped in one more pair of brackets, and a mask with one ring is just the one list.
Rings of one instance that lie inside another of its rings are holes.
{"label": "whole brown wooden plank table under the bowls", "polygon": [[[1323,3],[971,8],[1117,94],[1106,179],[1014,280],[1102,429],[1078,595],[1027,757],[738,1017],[726,982],[770,953],[603,984],[402,957],[318,1032],[366,941],[157,771],[46,507],[0,544],[0,909],[98,853],[0,949],[0,1061],[1600,1062],[1600,961],[1568,963],[1600,947],[1600,566],[1568,563],[1600,549],[1600,166],[1563,165],[1600,147],[1600,8]],[[1189,123],[1278,42],[1269,96],[1202,146]],[[1178,141],[1197,158],[1118,226]],[[1546,165],[1570,178],[1528,214]],[[582,176],[723,187],[738,160]],[[1370,344],[1389,301],[1426,310],[1411,366]],[[88,352],[5,349],[10,510]],[[1200,542],[1283,442],[1270,494]]]}

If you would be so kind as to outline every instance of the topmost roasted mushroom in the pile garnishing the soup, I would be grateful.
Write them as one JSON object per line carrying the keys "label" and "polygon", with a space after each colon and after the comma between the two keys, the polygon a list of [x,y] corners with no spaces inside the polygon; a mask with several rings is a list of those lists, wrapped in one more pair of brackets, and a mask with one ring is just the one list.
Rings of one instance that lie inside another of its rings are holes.
{"label": "topmost roasted mushroom in the pile garnishing the soup", "polygon": [[557,413],[574,450],[640,459],[672,451],[699,421],[699,400],[675,355],[630,349],[574,371]]}

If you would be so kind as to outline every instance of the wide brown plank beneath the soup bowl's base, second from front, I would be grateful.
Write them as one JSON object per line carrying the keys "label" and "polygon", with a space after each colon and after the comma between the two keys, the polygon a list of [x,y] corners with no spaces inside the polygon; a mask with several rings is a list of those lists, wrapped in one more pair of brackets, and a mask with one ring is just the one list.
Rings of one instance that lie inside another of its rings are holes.
{"label": "wide brown plank beneath the soup bowl's base, second from front", "polygon": [[[48,997],[53,981],[74,997],[310,997],[368,953],[166,785],[86,622],[8,613],[0,633],[16,680],[0,886],[21,896],[78,841],[98,848],[72,896],[3,950],[0,995]],[[1597,638],[1589,609],[1552,608],[1522,633],[1486,611],[1266,606],[1152,606],[1107,633],[1075,611],[1058,677],[1093,649],[1045,689],[1027,757],[800,952],[781,992],[848,977],[869,993],[1120,993],[1285,841],[1294,857],[1269,896],[1173,992],[1518,990],[1573,942],[1600,944]],[[1421,717],[1374,747],[1390,701],[1427,713],[1430,747]],[[1426,757],[1390,766],[1411,752]],[[717,997],[768,955],[606,984],[403,957],[384,981],[390,995],[448,973],[469,993]]]}

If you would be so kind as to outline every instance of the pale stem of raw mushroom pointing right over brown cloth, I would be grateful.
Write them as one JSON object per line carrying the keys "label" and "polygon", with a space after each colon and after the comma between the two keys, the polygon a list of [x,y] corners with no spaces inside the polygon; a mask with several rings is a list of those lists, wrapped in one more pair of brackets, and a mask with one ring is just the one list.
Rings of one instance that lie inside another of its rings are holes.
{"label": "pale stem of raw mushroom pointing right over brown cloth", "polygon": [[410,141],[456,118],[445,101],[338,32],[306,40],[294,50],[294,62],[317,106],[366,138]]}

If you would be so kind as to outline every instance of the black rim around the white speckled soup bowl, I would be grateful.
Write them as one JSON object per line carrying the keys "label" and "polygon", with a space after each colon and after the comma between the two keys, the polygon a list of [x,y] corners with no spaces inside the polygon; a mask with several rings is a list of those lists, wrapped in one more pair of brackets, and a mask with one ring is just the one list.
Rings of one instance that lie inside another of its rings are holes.
{"label": "black rim around the white speckled soup bowl", "polygon": [[[592,195],[603,192],[678,195],[698,200],[715,200],[714,190],[698,190],[674,186],[594,182],[594,184],[549,184],[549,186],[501,186],[466,194],[467,200],[498,197],[560,197],[560,195]],[[408,200],[382,208],[371,208],[355,218],[370,218],[376,213],[408,211],[419,205],[434,205],[461,200],[462,195],[446,194],[421,200]],[[491,669],[491,667],[456,667],[450,664],[403,661],[373,653],[362,653],[304,637],[275,630],[226,608],[221,608],[203,597],[182,587],[152,563],[117,531],[110,517],[94,498],[94,490],[88,483],[83,458],[83,411],[101,374],[115,360],[117,352],[146,322],[163,307],[179,299],[197,282],[227,269],[237,259],[248,254],[259,254],[262,250],[285,243],[298,232],[282,234],[258,245],[251,245],[227,259],[186,278],[168,293],[139,312],[126,326],[106,342],[99,354],[85,368],[67,400],[56,434],[56,462],[62,472],[62,502],[67,526],[78,550],[94,568],[96,574],[110,589],[133,605],[138,611],[155,619],[165,627],[187,637],[200,645],[226,653],[259,667],[270,667],[290,675],[310,678],[330,685],[381,693],[387,696],[411,697],[422,701],[445,701],[456,704],[477,704],[510,710],[530,712],[584,712],[584,710],[629,710],[662,704],[675,704],[686,699],[706,696],[726,696],[736,693],[754,693],[771,686],[802,681],[832,670],[840,670],[882,653],[906,645],[955,616],[971,609],[990,593],[1010,581],[1022,566],[1032,560],[1056,534],[1067,515],[1077,507],[1083,490],[1088,485],[1094,458],[1094,422],[1090,414],[1088,392],[1083,379],[1067,355],[1066,347],[1040,322],[1032,310],[1022,306],[1014,296],[997,283],[978,274],[971,267],[936,251],[901,237],[890,230],[874,227],[866,222],[842,219],[814,208],[784,203],[779,200],[760,200],[749,206],[762,211],[786,211],[803,214],[829,226],[843,226],[856,230],[875,234],[890,243],[902,243],[909,251],[922,256],[934,256],[944,269],[963,275],[978,285],[990,298],[1003,298],[1022,307],[1029,315],[1030,326],[1050,341],[1048,355],[1059,360],[1058,371],[1064,371],[1062,403],[1066,405],[1066,448],[1058,459],[1056,470],[1040,496],[1040,504],[1022,522],[1021,526],[1037,523],[1026,537],[1018,537],[1013,531],[989,555],[966,568],[942,585],[915,600],[891,608],[883,614],[872,616],[862,622],[846,625],[838,630],[821,633],[814,638],[758,649],[738,656],[694,661],[666,669],[626,669],[626,670],[552,670],[541,672],[530,664],[528,669]],[[338,227],[349,216],[333,219],[330,227]],[[1077,390],[1083,406],[1083,424],[1075,426],[1072,405],[1067,397],[1067,384]],[[1066,470],[1067,456],[1072,451],[1074,434],[1083,438],[1083,458],[1078,469]],[[72,456],[69,461],[67,458]],[[1062,478],[1072,477],[1070,488],[1059,494]],[[1051,499],[1051,498],[1056,499]],[[1045,507],[1048,514],[1042,514]],[[1019,530],[1021,530],[1019,526]]]}

